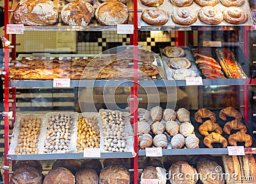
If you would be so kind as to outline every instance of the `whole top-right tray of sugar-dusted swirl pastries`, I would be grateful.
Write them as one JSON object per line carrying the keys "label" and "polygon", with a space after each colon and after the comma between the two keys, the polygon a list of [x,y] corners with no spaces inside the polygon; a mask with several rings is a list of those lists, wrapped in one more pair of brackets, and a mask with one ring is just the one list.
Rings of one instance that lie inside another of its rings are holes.
{"label": "whole top-right tray of sugar-dusted swirl pastries", "polygon": [[[225,4],[225,5],[224,5]],[[138,27],[153,26],[250,26],[253,25],[248,1],[226,0],[140,0]]]}

